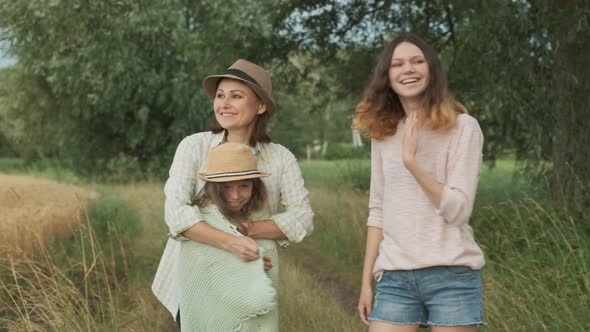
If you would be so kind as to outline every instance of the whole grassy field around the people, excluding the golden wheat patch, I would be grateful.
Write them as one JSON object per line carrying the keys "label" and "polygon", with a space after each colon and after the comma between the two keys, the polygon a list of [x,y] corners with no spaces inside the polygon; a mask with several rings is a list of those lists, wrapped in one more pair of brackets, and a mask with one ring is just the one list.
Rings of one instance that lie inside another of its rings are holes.
{"label": "whole grassy field around the people, excluding the golden wheat patch", "polygon": [[[369,163],[301,168],[315,231],[281,252],[281,331],[363,331],[355,306]],[[502,161],[484,170],[471,221],[487,259],[482,330],[588,330],[590,224],[537,203],[542,197],[513,169]],[[72,181],[64,174],[45,173]],[[163,184],[74,181],[101,199],[82,215],[79,231],[48,242],[43,255],[2,260],[0,331],[173,330],[150,290],[166,241]]]}

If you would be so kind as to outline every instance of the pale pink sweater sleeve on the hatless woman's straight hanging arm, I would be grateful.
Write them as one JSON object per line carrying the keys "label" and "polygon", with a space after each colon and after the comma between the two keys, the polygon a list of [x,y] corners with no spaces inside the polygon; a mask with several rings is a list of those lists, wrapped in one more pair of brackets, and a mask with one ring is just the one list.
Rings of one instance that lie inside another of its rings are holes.
{"label": "pale pink sweater sleeve on the hatless woman's straight hanging arm", "polygon": [[371,141],[371,189],[369,193],[368,226],[383,228],[383,163],[379,143]]}

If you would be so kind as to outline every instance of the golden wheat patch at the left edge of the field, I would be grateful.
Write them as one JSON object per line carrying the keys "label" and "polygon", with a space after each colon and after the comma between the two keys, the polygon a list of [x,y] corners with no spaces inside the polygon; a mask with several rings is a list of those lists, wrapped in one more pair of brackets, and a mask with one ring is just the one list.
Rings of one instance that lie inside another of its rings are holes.
{"label": "golden wheat patch at the left edge of the field", "polygon": [[73,185],[24,175],[0,174],[0,253],[31,250],[70,233],[79,213],[98,195]]}

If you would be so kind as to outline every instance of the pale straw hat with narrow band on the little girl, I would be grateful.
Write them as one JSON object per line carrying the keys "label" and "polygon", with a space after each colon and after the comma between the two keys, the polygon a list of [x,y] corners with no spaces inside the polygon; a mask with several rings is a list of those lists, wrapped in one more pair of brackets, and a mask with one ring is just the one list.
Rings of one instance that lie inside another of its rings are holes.
{"label": "pale straw hat with narrow band on the little girl", "polygon": [[205,181],[228,182],[265,177],[270,173],[256,168],[256,157],[248,145],[224,143],[209,150],[205,173],[198,175]]}

